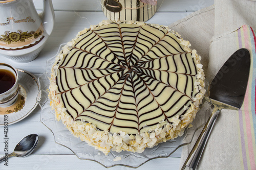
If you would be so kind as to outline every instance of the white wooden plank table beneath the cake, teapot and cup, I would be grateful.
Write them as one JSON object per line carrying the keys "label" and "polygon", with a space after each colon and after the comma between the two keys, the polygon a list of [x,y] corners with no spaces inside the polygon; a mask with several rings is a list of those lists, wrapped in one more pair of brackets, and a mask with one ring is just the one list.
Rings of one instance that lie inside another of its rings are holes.
{"label": "white wooden plank table beneath the cake, teapot and cup", "polygon": [[[33,0],[38,13],[42,1]],[[157,13],[147,22],[168,26],[191,12],[214,4],[214,0],[158,0]],[[46,67],[46,60],[55,56],[62,43],[70,41],[77,32],[90,25],[107,19],[101,11],[100,0],[53,0],[56,23],[53,33],[39,56],[29,63],[16,63],[0,56],[0,62],[12,63],[17,68],[32,72],[39,77]],[[177,30],[178,31],[178,30]],[[40,122],[40,107],[22,121],[9,126],[9,153],[24,136],[36,133],[39,143],[35,151],[26,158],[9,158],[8,166],[0,164],[0,169],[105,169],[89,160],[78,159],[69,149],[56,144],[52,132]],[[0,127],[0,156],[4,156],[4,128]],[[181,149],[169,158],[154,159],[138,169],[179,169]],[[110,169],[131,169],[115,166]]]}

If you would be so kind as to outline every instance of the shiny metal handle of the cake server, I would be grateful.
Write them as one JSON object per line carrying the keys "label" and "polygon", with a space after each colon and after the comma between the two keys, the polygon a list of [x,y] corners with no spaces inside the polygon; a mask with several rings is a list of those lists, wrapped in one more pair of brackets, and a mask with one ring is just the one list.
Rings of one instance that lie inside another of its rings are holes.
{"label": "shiny metal handle of the cake server", "polygon": [[196,169],[197,164],[201,158],[201,155],[203,153],[205,144],[207,143],[208,137],[210,135],[210,132],[212,130],[212,127],[215,124],[215,120],[218,117],[220,113],[220,108],[216,105],[214,105],[214,109],[212,110],[201,134],[199,135],[193,149],[190,151],[185,163],[183,164],[181,170],[185,169],[186,166]]}

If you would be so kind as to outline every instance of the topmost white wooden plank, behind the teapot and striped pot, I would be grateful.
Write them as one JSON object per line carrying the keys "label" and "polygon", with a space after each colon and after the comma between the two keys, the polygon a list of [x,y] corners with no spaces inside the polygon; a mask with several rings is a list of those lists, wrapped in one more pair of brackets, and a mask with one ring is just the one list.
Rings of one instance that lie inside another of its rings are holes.
{"label": "topmost white wooden plank, behind the teapot and striped pot", "polygon": [[[33,0],[36,9],[42,9],[41,0]],[[195,12],[214,4],[214,0],[158,0],[158,12]],[[101,11],[100,0],[53,0],[56,11]]]}

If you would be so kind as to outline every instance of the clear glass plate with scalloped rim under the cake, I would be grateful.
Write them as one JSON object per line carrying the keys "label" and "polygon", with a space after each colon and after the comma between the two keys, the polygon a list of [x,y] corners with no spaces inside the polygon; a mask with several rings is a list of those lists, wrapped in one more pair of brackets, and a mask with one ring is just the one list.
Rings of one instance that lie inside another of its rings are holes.
{"label": "clear glass plate with scalloped rim under the cake", "polygon": [[[59,51],[63,45],[64,44],[60,45]],[[108,155],[105,155],[101,151],[88,145],[87,142],[74,137],[61,121],[58,122],[55,119],[55,113],[50,107],[50,100],[48,98],[49,78],[54,62],[55,56],[47,60],[46,72],[38,78],[41,89],[38,93],[37,102],[41,107],[41,123],[51,130],[57,144],[69,148],[79,159],[92,160],[98,162],[104,167],[121,165],[136,168],[152,159],[169,157],[178,148],[191,142],[195,132],[204,126],[206,122],[206,115],[211,112],[210,100],[208,96],[205,95],[203,103],[200,106],[200,110],[193,123],[191,123],[193,127],[189,129],[187,128],[184,131],[183,136],[177,137],[174,140],[159,143],[154,148],[146,148],[143,153],[132,153],[127,151],[117,153],[115,151],[111,151]],[[206,88],[208,88],[208,84],[209,83],[206,81]],[[121,158],[121,160],[118,159],[118,161],[115,161],[116,158]]]}

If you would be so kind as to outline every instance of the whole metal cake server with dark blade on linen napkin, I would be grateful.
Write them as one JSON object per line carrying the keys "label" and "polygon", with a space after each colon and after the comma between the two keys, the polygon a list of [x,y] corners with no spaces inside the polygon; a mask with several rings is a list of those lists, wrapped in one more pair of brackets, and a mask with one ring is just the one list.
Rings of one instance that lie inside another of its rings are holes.
{"label": "whole metal cake server with dark blade on linen napkin", "polygon": [[250,53],[245,48],[235,52],[212,80],[209,98],[214,109],[183,167],[196,169],[215,120],[222,109],[239,110],[243,104],[250,70]]}

